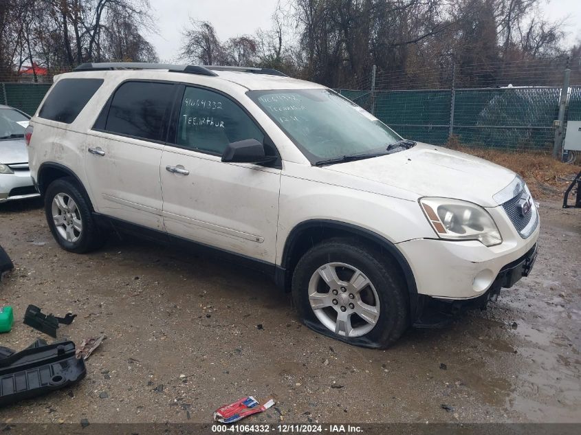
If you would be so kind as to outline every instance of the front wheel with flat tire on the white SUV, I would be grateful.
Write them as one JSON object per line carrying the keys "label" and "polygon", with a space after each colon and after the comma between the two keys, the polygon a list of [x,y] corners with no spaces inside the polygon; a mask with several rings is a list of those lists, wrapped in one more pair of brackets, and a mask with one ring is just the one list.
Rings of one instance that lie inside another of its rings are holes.
{"label": "front wheel with flat tire on the white SUV", "polygon": [[333,238],[309,249],[292,277],[303,322],[355,346],[393,344],[410,321],[407,289],[390,260],[355,239]]}

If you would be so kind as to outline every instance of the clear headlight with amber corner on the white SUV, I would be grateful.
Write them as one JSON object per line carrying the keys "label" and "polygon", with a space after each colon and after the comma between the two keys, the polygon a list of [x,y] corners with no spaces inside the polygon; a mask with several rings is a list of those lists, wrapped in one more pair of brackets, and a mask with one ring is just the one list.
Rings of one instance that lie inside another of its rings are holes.
{"label": "clear headlight with amber corner on the white SUV", "polygon": [[492,216],[480,205],[448,198],[421,198],[419,203],[439,238],[477,240],[485,246],[503,241]]}

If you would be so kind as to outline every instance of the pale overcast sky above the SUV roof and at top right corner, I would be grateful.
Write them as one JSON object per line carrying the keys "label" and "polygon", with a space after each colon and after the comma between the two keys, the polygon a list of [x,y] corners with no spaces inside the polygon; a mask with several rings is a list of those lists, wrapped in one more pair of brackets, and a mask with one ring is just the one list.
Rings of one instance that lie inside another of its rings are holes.
{"label": "pale overcast sky above the SUV roof and at top right corner", "polygon": [[[191,17],[210,21],[221,41],[241,34],[254,34],[259,27],[269,30],[278,0],[150,0],[159,34],[148,39],[162,61],[177,62],[182,30]],[[568,17],[567,45],[581,39],[581,0],[549,0],[542,4],[548,19]]]}

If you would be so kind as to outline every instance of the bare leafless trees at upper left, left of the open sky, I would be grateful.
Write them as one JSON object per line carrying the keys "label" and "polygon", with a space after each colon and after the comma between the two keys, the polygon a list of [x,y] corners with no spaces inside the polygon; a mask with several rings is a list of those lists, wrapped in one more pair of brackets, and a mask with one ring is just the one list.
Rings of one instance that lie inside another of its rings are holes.
{"label": "bare leafless trees at upper left, left of the open sky", "polygon": [[155,31],[149,0],[3,0],[0,5],[0,20],[6,20],[0,65],[38,62],[60,69],[118,59],[120,53],[131,60],[157,58],[143,36]]}

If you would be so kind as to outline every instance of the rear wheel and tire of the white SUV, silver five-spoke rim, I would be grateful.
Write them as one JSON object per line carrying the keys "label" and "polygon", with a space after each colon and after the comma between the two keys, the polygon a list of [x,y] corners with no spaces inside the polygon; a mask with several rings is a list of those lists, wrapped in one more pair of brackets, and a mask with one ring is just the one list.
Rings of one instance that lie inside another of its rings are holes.
{"label": "rear wheel and tire of the white SUV, silver five-spoke rim", "polygon": [[50,183],[45,192],[45,215],[52,236],[69,252],[84,254],[105,243],[91,212],[91,201],[72,177]]}

